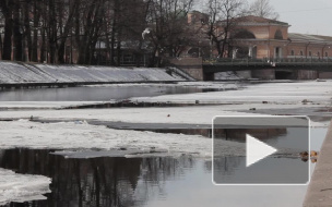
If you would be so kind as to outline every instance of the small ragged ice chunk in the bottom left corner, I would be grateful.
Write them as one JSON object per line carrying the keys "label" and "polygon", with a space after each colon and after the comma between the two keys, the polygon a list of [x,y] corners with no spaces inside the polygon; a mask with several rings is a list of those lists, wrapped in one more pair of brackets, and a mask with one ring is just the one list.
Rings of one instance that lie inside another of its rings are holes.
{"label": "small ragged ice chunk in the bottom left corner", "polygon": [[10,202],[46,199],[50,179],[42,175],[17,174],[0,168],[0,205]]}

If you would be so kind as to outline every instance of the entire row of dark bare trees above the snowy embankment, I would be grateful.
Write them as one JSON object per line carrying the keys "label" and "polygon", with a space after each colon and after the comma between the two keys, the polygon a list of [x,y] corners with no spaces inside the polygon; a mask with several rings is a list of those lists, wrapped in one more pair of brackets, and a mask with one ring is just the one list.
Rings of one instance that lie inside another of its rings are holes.
{"label": "entire row of dark bare trees above the snowy embankment", "polygon": [[[208,2],[211,17],[204,38],[211,39],[220,53],[226,48],[232,20],[245,15],[244,2]],[[194,41],[195,32],[187,24],[187,14],[194,3],[193,0],[0,0],[1,58],[68,63],[73,62],[74,53],[75,63],[94,64],[97,49],[103,46],[106,61],[117,65],[126,47],[137,60],[149,50],[151,65],[159,65],[165,53],[178,57]],[[266,8],[271,10],[270,5]],[[227,21],[223,34],[215,31],[221,20]],[[151,33],[143,39],[145,28]]]}

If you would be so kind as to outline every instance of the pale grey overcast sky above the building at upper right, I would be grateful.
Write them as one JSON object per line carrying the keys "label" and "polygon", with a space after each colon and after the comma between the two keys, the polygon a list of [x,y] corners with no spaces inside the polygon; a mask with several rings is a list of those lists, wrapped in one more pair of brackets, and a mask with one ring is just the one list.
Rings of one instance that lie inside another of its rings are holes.
{"label": "pale grey overcast sky above the building at upper right", "polygon": [[[248,0],[249,3],[254,0]],[[332,36],[332,0],[270,0],[289,33]]]}

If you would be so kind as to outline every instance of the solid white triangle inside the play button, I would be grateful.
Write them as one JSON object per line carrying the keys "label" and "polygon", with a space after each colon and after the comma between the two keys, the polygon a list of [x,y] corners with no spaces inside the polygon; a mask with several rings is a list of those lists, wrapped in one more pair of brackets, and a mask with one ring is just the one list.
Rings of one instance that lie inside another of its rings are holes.
{"label": "solid white triangle inside the play button", "polygon": [[250,136],[249,134],[246,135],[246,143],[247,167],[277,151],[277,149],[266,145],[263,142],[260,142],[259,139]]}

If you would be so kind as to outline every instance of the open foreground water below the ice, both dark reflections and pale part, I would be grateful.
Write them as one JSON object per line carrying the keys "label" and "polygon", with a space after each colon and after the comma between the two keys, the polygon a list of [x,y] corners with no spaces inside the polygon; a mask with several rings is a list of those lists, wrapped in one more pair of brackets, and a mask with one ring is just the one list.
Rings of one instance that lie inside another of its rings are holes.
{"label": "open foreground water below the ice, both dark reflections and pale part", "polygon": [[[270,131],[271,132],[271,131]],[[311,146],[319,149],[325,129],[311,131]],[[272,133],[270,142],[277,134]],[[292,133],[290,133],[292,134]],[[190,156],[66,159],[55,150],[8,149],[0,168],[52,179],[46,200],[10,203],[11,207],[115,207],[115,206],[301,206],[306,186],[215,186],[212,160]],[[282,160],[274,158],[275,160]],[[300,159],[285,159],[303,165]],[[232,178],[241,157],[218,158],[218,172]],[[311,171],[315,165],[311,163]]]}

